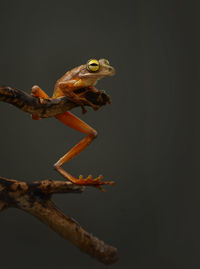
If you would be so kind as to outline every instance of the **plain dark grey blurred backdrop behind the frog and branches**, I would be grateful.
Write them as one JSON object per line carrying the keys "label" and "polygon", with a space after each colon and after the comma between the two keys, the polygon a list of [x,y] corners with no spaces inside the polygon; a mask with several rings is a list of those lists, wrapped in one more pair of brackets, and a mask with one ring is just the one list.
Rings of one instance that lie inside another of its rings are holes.
{"label": "plain dark grey blurred backdrop behind the frog and branches", "polygon": [[[112,105],[84,116],[99,137],[64,167],[116,181],[106,193],[57,195],[84,228],[118,247],[112,268],[199,268],[197,2],[1,1],[0,82],[52,94],[89,58]],[[60,179],[53,163],[83,135],[0,103],[0,175]],[[0,214],[2,269],[105,268],[24,212]]]}

